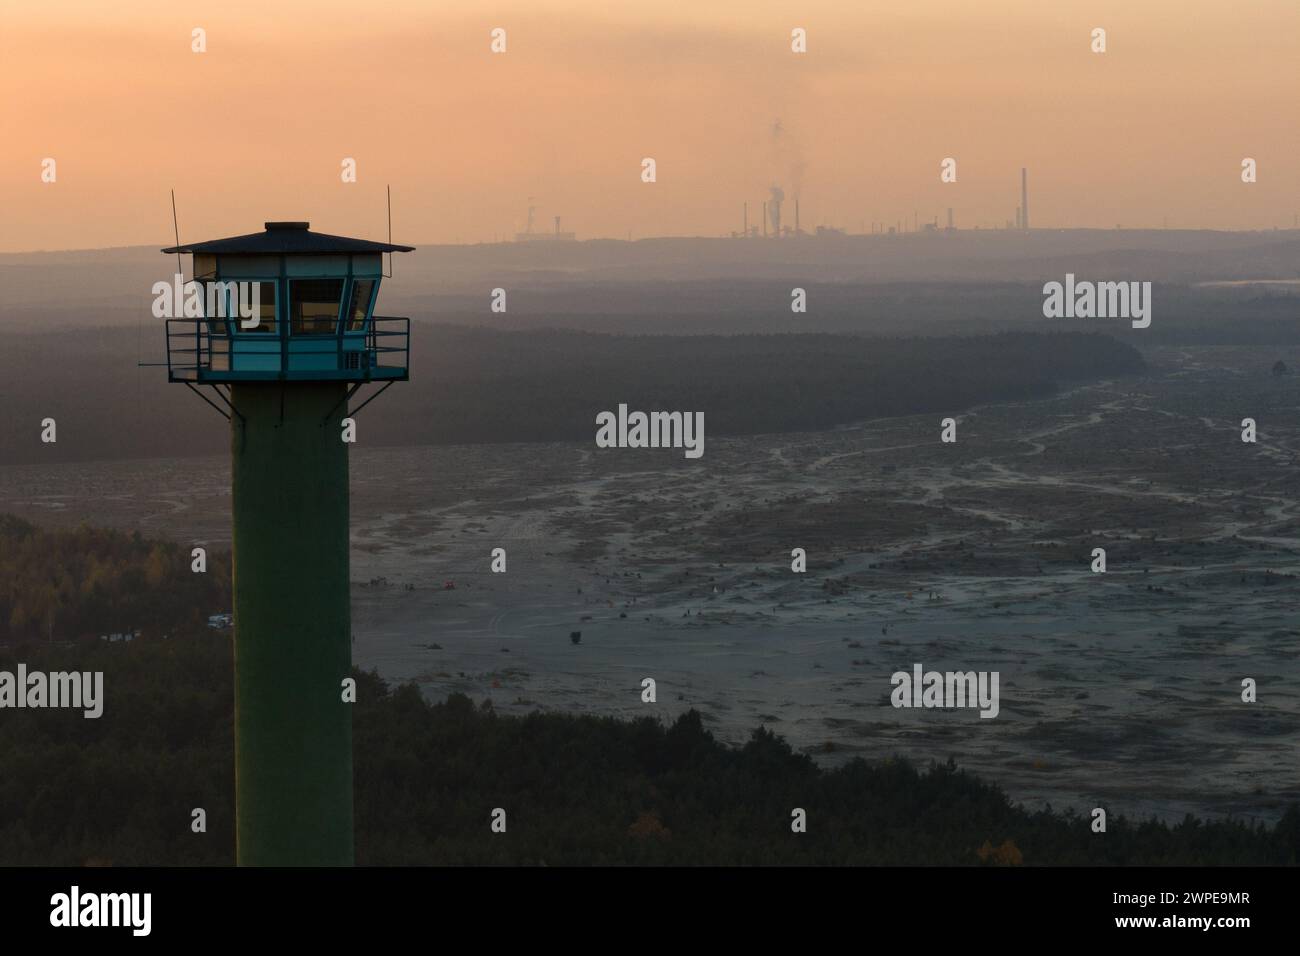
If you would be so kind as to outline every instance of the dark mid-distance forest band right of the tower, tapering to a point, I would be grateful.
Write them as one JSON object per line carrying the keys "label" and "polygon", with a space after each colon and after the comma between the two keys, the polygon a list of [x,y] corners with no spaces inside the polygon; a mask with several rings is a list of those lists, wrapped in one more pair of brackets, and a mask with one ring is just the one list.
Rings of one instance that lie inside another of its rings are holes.
{"label": "dark mid-distance forest band right of the tower, tapering to a point", "polygon": [[590,441],[598,411],[703,411],[710,434],[812,431],[862,419],[959,411],[1052,394],[1069,381],[1140,372],[1101,334],[971,338],[603,336],[447,326],[421,346],[424,380],[404,423],[377,440]]}

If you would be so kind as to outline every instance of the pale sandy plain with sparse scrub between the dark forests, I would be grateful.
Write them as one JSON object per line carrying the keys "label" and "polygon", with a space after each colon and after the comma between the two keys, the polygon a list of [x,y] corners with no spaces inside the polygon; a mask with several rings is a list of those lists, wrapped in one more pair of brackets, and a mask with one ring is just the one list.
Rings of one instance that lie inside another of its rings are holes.
{"label": "pale sandy plain with sparse scrub between the dark forests", "polygon": [[[1274,819],[1300,800],[1300,375],[1270,367],[1300,355],[1144,358],[957,414],[956,444],[924,415],[706,433],[698,460],[367,449],[377,402],[351,464],[354,659],[503,713],[696,708],[824,763],[953,757],[1030,806]],[[228,546],[229,463],[4,467],[0,511]],[[1001,713],[892,708],[915,662],[998,671]]]}

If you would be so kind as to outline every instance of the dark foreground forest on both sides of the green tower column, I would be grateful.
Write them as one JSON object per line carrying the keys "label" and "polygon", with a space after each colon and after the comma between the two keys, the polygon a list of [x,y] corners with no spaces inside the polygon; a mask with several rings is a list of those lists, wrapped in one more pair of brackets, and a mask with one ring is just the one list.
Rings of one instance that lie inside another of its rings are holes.
{"label": "dark foreground forest on both sides of the green tower column", "polygon": [[[0,721],[0,865],[234,862],[230,645],[190,640],[0,650],[0,669],[103,670],[104,715]],[[1295,865],[1300,809],[1275,826],[1026,810],[952,762],[818,767],[779,736],[718,743],[696,711],[503,717],[354,672],[361,865]],[[205,834],[190,829],[207,810]],[[489,829],[494,808],[506,835]],[[790,830],[792,810],[807,832]]]}

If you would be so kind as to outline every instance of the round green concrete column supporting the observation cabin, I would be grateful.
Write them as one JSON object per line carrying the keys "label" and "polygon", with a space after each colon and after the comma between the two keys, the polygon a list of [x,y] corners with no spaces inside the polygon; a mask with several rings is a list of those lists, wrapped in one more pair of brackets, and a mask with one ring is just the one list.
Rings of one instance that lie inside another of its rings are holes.
{"label": "round green concrete column supporting the observation cabin", "polygon": [[352,864],[346,389],[231,386],[240,866]]}

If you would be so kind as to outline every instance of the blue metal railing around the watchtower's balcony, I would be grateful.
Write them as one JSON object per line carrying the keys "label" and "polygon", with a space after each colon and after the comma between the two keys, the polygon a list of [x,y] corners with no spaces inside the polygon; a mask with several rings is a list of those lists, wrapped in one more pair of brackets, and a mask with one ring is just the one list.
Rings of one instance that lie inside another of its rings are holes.
{"label": "blue metal railing around the watchtower's balcony", "polygon": [[[212,326],[218,332],[213,333]],[[410,367],[411,352],[411,320],[404,316],[373,316],[367,325],[365,338],[358,342],[355,334],[342,332],[334,336],[290,336],[282,341],[278,336],[260,333],[256,339],[251,336],[230,336],[222,329],[225,320],[209,319],[168,319],[166,320],[166,365],[169,381],[208,381],[221,380],[225,373],[234,377],[266,377],[277,378],[285,375],[291,377],[309,378],[313,369],[295,369],[294,358],[312,356],[320,359],[329,355],[329,349],[321,349],[322,342],[334,342],[334,372],[342,372],[343,378],[369,378],[372,373],[380,372],[377,377],[390,378],[393,373],[400,372],[404,377]],[[238,349],[240,342],[274,342],[274,351],[256,352]],[[294,342],[304,346],[311,343],[315,347],[300,350],[294,349]],[[235,346],[235,347],[231,347]],[[240,369],[240,359],[252,360],[256,356],[278,356],[276,368],[270,369]],[[328,371],[328,369],[315,369]],[[351,375],[355,373],[355,375]]]}

